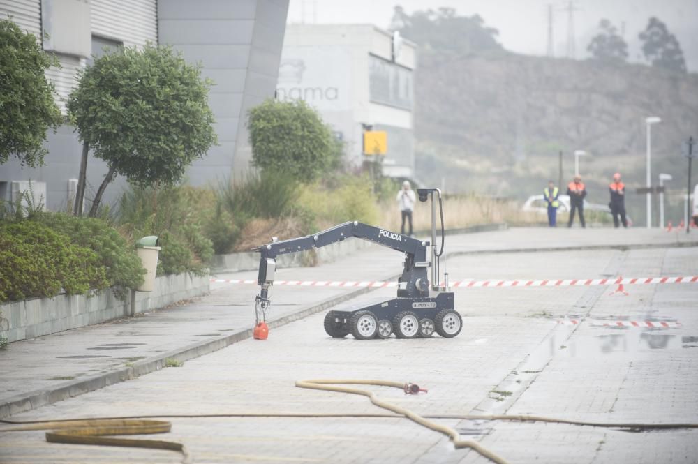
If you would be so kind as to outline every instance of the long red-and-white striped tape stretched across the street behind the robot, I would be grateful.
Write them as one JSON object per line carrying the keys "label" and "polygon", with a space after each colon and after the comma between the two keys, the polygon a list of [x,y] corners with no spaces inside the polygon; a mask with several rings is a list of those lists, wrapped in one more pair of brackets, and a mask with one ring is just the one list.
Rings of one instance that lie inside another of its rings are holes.
{"label": "long red-and-white striped tape stretched across the street behind the robot", "polygon": [[[257,280],[212,278],[211,283],[255,284]],[[638,285],[662,283],[698,283],[698,276],[646,278],[593,278],[568,280],[461,280],[452,287],[578,287],[587,285]],[[275,280],[274,285],[297,287],[397,287],[397,282],[338,280]]]}

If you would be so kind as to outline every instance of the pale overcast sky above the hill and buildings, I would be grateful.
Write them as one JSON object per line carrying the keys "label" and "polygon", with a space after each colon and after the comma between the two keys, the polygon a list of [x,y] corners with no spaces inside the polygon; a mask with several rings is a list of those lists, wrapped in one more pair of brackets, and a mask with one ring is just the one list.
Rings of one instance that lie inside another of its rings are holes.
{"label": "pale overcast sky above the hill and buildings", "polygon": [[[681,43],[688,69],[698,72],[698,0],[575,0],[574,37],[577,58],[586,57],[586,46],[602,18],[611,20],[630,46],[630,59],[641,61],[637,34],[656,16],[667,24]],[[415,10],[450,6],[459,15],[483,17],[499,30],[499,41],[512,52],[546,54],[547,5],[554,8],[555,55],[565,56],[569,1],[549,0],[290,0],[288,22],[372,23],[387,28],[393,7]]]}

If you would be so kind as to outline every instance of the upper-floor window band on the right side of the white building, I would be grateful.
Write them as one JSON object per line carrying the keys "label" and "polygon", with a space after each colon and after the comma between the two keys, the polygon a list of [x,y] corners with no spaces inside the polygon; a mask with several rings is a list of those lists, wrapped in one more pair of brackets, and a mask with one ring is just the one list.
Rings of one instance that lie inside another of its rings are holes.
{"label": "upper-floor window band on the right side of the white building", "polygon": [[413,106],[412,70],[385,59],[369,56],[371,101],[404,110]]}

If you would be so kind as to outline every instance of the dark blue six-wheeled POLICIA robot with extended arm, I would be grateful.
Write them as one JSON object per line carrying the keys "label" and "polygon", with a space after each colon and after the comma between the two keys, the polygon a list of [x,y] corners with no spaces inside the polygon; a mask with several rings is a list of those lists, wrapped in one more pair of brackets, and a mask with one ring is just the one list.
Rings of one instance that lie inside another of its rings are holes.
{"label": "dark blue six-wheeled POLICIA robot with extended arm", "polygon": [[[359,340],[369,338],[388,338],[395,334],[397,338],[429,337],[434,331],[443,337],[458,335],[463,326],[461,315],[454,307],[454,294],[448,285],[448,274],[444,274],[443,286],[440,285],[439,258],[443,255],[443,203],[438,188],[418,188],[419,200],[426,202],[431,197],[431,244],[397,234],[380,227],[373,227],[359,222],[336,225],[322,232],[307,237],[272,241],[272,243],[255,248],[260,252],[260,269],[258,284],[260,293],[255,299],[255,316],[257,326],[264,324],[266,338],[267,312],[269,310],[269,290],[274,283],[276,257],[287,253],[320,248],[358,237],[375,242],[393,250],[405,253],[402,276],[398,279],[397,297],[371,304],[355,310],[331,310],[325,316],[325,331],[332,337],[344,337],[351,333]],[[441,247],[436,252],[436,202],[438,197],[441,219]],[[431,260],[427,258],[427,248],[431,248]],[[431,280],[428,269],[431,268]],[[256,335],[255,335],[255,338]]]}

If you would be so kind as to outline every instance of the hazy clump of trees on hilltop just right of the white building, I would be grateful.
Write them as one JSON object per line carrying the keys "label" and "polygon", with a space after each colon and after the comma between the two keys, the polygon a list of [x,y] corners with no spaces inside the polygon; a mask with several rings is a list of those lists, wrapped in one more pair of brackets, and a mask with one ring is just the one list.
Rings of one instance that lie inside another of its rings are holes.
{"label": "hazy clump of trees on hilltop just right of the white building", "polygon": [[480,15],[458,16],[454,8],[417,10],[408,15],[404,8],[395,6],[390,29],[421,47],[441,52],[502,50],[496,40],[497,29],[485,26]]}

